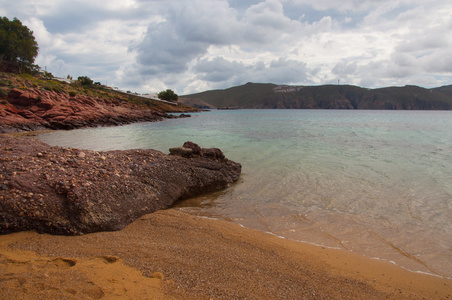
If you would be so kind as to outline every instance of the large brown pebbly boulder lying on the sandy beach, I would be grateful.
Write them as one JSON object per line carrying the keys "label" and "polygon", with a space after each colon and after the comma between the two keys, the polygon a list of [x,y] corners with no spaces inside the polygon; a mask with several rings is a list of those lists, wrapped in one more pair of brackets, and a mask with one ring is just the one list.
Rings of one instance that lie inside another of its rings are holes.
{"label": "large brown pebbly boulder lying on the sandy beach", "polygon": [[240,164],[219,149],[199,149],[216,155],[96,152],[0,137],[0,233],[119,230],[144,214],[238,180]]}

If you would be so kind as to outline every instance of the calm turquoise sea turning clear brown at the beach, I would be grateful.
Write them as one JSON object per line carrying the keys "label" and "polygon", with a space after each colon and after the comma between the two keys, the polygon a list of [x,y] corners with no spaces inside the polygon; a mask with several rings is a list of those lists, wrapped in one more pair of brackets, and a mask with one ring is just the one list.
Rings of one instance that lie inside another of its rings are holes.
{"label": "calm turquoise sea turning clear brown at the beach", "polygon": [[174,209],[452,278],[450,111],[212,110],[39,139],[97,151],[220,148],[242,164],[239,181]]}

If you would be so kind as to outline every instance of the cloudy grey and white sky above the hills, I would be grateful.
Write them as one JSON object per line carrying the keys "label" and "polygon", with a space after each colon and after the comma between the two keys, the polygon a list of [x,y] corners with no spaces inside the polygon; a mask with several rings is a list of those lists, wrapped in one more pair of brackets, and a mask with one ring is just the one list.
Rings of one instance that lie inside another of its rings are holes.
{"label": "cloudy grey and white sky above the hills", "polygon": [[55,76],[134,92],[452,84],[447,0],[0,0],[0,16]]}

